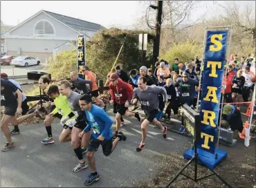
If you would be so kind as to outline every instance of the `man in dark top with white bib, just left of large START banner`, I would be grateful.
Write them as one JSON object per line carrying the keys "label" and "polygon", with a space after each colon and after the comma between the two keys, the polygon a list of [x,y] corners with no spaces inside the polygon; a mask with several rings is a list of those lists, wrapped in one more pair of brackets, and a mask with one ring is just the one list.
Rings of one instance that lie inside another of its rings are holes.
{"label": "man in dark top with white bib, just left of large START banner", "polygon": [[[180,102],[181,105],[188,104],[188,106],[192,106],[193,98],[194,98],[194,90],[195,87],[198,86],[199,82],[196,79],[191,79],[190,74],[185,71],[182,74],[182,78],[177,79],[176,82],[176,92],[180,93]],[[179,129],[179,133],[184,133],[184,118],[181,115],[181,127]]]}

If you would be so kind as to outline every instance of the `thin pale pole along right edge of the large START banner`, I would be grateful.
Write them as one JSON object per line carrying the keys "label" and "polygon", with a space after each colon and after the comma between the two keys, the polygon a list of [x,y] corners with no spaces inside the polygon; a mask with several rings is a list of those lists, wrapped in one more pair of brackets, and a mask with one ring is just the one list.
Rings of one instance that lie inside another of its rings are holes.
{"label": "thin pale pole along right edge of the large START banner", "polygon": [[[231,41],[232,41],[232,26],[227,26],[227,30],[228,28],[230,28],[230,37],[229,37],[229,44],[228,44],[228,50],[226,53],[226,59],[228,59],[228,57],[230,56],[230,48],[231,48]],[[224,65],[224,70],[225,70],[225,65]],[[225,81],[225,87],[224,87],[224,93],[225,93],[225,88],[226,88],[226,77],[227,77],[227,71],[225,70],[225,77],[224,77],[224,81]],[[222,87],[222,84],[221,84]],[[221,117],[222,117],[222,112],[223,112],[223,101],[224,101],[224,93],[221,97]],[[221,133],[221,117],[219,118],[219,131],[218,131],[218,139],[217,139],[217,149],[219,149],[219,134]],[[217,154],[217,153],[216,153]],[[216,156],[217,157],[217,156]]]}

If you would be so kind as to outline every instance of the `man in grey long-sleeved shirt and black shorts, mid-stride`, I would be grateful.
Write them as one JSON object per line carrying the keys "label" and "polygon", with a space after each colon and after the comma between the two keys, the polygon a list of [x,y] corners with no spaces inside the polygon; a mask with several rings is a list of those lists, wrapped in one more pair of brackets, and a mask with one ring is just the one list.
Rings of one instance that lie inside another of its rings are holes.
{"label": "man in grey long-sleeved shirt and black shorts, mid-stride", "polygon": [[138,78],[138,88],[134,89],[133,103],[135,104],[136,102],[138,102],[138,100],[140,100],[142,109],[146,113],[146,118],[141,124],[142,140],[136,151],[141,151],[145,147],[147,126],[150,122],[154,122],[154,124],[156,124],[162,130],[163,138],[167,137],[167,127],[162,126],[161,122],[158,122],[158,120],[156,120],[159,106],[158,94],[162,94],[164,97],[164,102],[167,102],[167,95],[163,88],[147,86],[146,77]]}

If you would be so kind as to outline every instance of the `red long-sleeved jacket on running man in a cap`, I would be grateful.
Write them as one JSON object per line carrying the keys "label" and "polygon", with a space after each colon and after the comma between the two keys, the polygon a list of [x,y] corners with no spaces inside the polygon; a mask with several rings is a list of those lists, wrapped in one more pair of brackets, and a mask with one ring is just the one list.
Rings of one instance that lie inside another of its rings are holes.
{"label": "red long-sleeved jacket on running man in a cap", "polygon": [[122,82],[121,79],[118,79],[118,84],[116,84],[116,86],[109,84],[109,91],[111,100],[116,100],[117,104],[125,104],[127,100],[131,100],[134,93],[131,85],[126,82]]}

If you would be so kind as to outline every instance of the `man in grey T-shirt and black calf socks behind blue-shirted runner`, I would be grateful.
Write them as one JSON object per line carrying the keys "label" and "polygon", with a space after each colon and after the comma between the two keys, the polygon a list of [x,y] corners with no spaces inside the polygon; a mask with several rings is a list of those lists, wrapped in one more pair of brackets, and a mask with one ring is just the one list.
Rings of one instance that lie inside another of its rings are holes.
{"label": "man in grey T-shirt and black calf socks behind blue-shirted runner", "polygon": [[72,112],[77,117],[72,122],[68,120],[68,125],[73,124],[71,132],[71,145],[75,154],[79,160],[79,164],[73,169],[74,172],[80,171],[88,167],[83,159],[83,154],[86,153],[86,147],[89,145],[90,132],[84,134],[80,141],[79,133],[86,127],[86,115],[80,108],[79,99],[80,94],[71,90],[71,84],[67,80],[62,80],[58,83],[59,91],[62,95],[67,97],[68,104],[71,107]]}

